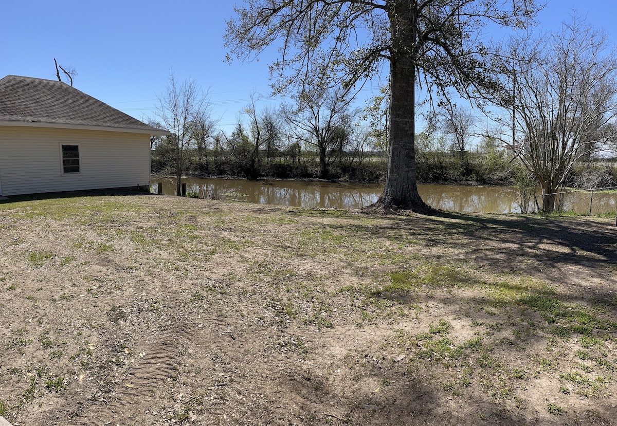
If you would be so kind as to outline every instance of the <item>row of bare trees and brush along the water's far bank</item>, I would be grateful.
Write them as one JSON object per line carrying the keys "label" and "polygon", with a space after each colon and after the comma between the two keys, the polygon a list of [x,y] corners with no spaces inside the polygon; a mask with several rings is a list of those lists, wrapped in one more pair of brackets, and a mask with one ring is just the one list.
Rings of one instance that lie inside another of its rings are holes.
{"label": "row of bare trees and brush along the water's far bank", "polygon": [[[173,86],[183,88],[177,82]],[[186,97],[186,88],[183,91]],[[366,126],[371,107],[352,107],[342,89],[320,92],[313,99],[293,96],[291,103],[278,108],[259,109],[259,99],[253,96],[230,133],[221,131],[207,113],[207,94],[189,92],[199,102],[178,102],[184,105],[184,113],[171,114],[176,117],[175,124],[171,120],[165,126],[175,129],[172,136],[152,138],[154,174],[180,176],[178,182],[181,176],[352,182],[385,179],[387,130]],[[196,105],[198,111],[189,112],[189,104]],[[427,122],[426,129],[415,136],[418,182],[537,185],[515,150],[499,137],[478,133],[476,116],[470,110],[444,106]],[[611,186],[616,181],[614,163],[594,155],[577,162],[565,176],[567,186],[586,189]]]}

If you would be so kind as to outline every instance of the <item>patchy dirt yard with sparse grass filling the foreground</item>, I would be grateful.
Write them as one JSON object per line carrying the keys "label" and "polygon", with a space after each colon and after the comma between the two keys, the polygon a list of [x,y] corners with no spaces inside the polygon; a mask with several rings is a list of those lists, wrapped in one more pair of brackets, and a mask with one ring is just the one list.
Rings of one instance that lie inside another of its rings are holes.
{"label": "patchy dirt yard with sparse grass filling the foreground", "polygon": [[0,416],[617,425],[615,218],[0,202]]}

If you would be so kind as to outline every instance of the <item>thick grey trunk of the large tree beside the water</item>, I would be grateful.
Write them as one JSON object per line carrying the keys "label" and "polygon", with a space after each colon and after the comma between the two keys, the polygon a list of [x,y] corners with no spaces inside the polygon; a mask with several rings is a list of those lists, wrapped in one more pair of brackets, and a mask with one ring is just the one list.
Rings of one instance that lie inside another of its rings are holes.
{"label": "thick grey trunk of the large tree beside the water", "polygon": [[[415,162],[415,67],[412,22],[415,11],[407,2],[391,10],[392,36],[400,45],[390,61],[390,136],[387,149],[386,186],[377,205],[426,211],[418,194]],[[397,25],[394,25],[394,22]]]}

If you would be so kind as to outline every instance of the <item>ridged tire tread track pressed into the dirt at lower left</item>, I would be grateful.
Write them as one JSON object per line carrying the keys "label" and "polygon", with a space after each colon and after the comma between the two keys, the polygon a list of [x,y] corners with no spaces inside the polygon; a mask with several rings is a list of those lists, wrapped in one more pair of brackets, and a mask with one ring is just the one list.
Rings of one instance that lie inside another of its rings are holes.
{"label": "ridged tire tread track pressed into the dirt at lower left", "polygon": [[[143,416],[172,402],[166,383],[180,369],[180,356],[186,343],[196,330],[176,326],[160,338],[159,342],[135,353],[129,374],[105,403],[86,409],[78,425],[127,425],[141,424]],[[141,358],[140,354],[144,354]]]}

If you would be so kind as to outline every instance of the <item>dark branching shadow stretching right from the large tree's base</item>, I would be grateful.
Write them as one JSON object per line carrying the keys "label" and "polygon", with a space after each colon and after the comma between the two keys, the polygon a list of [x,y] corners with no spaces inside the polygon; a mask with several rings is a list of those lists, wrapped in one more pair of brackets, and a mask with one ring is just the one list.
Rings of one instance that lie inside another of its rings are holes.
{"label": "dark branching shadow stretching right from the large tree's base", "polygon": [[[534,272],[567,277],[566,265],[584,266],[597,276],[617,264],[617,227],[612,221],[576,217],[475,215],[433,211],[431,215],[390,216],[382,224],[358,224],[355,232],[384,232],[451,250],[435,260],[475,260],[497,272]],[[461,238],[463,237],[463,238]]]}

